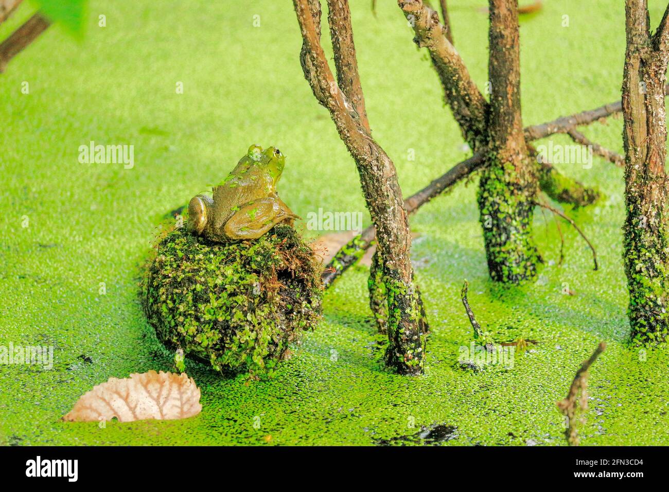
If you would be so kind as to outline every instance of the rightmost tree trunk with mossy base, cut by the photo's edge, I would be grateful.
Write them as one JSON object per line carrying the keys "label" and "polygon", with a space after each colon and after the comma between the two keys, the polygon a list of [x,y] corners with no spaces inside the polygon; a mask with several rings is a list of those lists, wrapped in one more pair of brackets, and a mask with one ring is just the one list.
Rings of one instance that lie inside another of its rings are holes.
{"label": "rightmost tree trunk with mossy base, cut by the photo's edge", "polygon": [[624,262],[632,340],[666,343],[669,331],[669,230],[664,82],[669,6],[650,35],[647,0],[626,0],[623,80],[626,220]]}

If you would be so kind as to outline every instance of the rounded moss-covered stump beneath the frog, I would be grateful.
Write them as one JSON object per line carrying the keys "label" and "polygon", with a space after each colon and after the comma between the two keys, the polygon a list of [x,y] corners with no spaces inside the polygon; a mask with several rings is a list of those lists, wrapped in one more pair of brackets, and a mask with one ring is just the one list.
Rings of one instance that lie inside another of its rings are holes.
{"label": "rounded moss-covered stump beneath the frog", "polygon": [[178,228],[159,239],[142,300],[169,349],[221,373],[271,378],[321,315],[320,263],[290,226],[217,244]]}

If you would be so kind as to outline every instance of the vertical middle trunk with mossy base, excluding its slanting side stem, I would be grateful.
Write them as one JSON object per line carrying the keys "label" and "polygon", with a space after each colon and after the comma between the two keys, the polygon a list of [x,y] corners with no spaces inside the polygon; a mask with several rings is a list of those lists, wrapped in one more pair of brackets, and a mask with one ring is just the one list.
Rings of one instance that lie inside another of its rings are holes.
{"label": "vertical middle trunk with mossy base, excluding its slanting side stem", "polygon": [[537,166],[525,144],[520,117],[520,46],[517,0],[490,0],[491,84],[488,154],[478,191],[480,221],[492,280],[520,283],[537,274],[532,238]]}

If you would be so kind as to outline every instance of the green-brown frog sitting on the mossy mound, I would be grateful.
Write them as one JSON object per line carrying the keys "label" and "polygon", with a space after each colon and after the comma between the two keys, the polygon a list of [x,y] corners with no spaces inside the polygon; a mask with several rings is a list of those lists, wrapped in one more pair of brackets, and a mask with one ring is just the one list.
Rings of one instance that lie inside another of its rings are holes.
{"label": "green-brown frog sitting on the mossy mound", "polygon": [[258,239],[276,224],[292,226],[300,217],[280,199],[276,184],[286,157],[276,147],[254,144],[212,189],[188,204],[188,230],[212,242]]}

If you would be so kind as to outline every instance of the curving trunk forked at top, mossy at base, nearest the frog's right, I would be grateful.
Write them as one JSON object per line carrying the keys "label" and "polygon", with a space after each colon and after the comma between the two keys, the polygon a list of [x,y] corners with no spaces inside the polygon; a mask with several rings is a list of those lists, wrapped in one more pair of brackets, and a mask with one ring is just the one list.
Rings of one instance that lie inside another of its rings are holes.
{"label": "curving trunk forked at top, mossy at base, nearest the frog's right", "polygon": [[400,374],[422,374],[425,358],[420,293],[409,258],[411,234],[395,165],[371,137],[359,83],[351,14],[345,0],[328,0],[328,23],[335,51],[334,80],[320,46],[320,3],[294,0],[300,30],[304,76],[328,109],[339,136],[357,165],[367,208],[377,232],[383,288],[387,302],[387,365]]}

